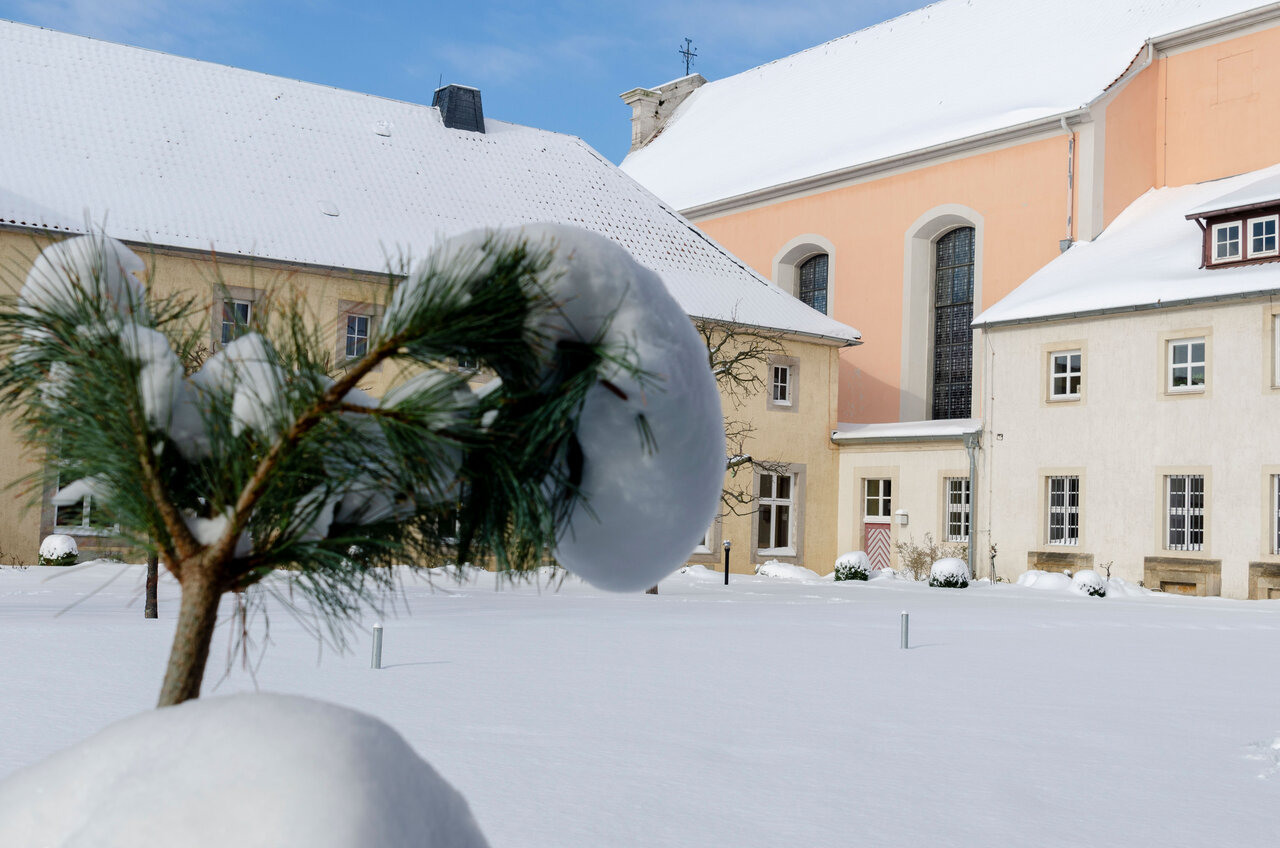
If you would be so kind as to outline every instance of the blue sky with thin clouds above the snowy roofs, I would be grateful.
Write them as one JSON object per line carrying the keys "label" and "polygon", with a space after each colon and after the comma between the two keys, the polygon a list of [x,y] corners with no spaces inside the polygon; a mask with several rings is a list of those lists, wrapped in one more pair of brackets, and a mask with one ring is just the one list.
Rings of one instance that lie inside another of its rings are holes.
{"label": "blue sky with thin clouds above the snowy roofs", "polygon": [[[340,88],[431,102],[476,86],[492,118],[626,155],[618,95],[694,70],[718,79],[924,0],[0,0],[0,18]],[[785,110],[785,104],[774,104]]]}

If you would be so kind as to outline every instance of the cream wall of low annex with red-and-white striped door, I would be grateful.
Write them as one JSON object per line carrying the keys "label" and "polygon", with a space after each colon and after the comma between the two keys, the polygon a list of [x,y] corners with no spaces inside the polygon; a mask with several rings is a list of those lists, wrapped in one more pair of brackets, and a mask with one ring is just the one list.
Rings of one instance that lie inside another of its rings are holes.
{"label": "cream wall of low annex with red-and-white striped door", "polygon": [[[897,544],[927,544],[925,534],[934,543],[947,538],[945,512],[945,479],[969,477],[969,455],[963,439],[914,443],[858,443],[840,446],[840,497],[836,524],[837,547],[841,551],[865,550],[864,480],[869,478],[892,482],[892,511],[906,511],[908,523],[895,518],[890,523],[891,567],[900,567]],[[980,479],[978,491],[982,489]],[[979,529],[984,526],[978,516]],[[974,553],[983,550],[977,539]],[[975,567],[982,575],[982,557],[975,557]]]}

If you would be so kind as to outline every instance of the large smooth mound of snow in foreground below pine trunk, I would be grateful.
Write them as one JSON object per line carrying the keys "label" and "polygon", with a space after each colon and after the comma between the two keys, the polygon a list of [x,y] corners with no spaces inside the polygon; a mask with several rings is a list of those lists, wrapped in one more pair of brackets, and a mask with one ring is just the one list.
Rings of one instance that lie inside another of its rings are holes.
{"label": "large smooth mound of snow in foreground below pine trunk", "polygon": [[289,696],[151,710],[0,783],[0,845],[15,848],[486,844],[399,734]]}

